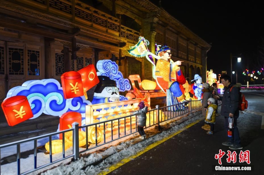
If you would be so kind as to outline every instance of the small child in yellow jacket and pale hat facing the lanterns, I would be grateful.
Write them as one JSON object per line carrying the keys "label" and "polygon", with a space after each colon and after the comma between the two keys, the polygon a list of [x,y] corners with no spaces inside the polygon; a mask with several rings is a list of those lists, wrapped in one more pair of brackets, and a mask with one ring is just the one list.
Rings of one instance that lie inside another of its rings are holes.
{"label": "small child in yellow jacket and pale hat facing the lanterns", "polygon": [[209,98],[207,100],[207,110],[206,110],[206,116],[205,116],[205,125],[202,126],[204,130],[207,130],[207,134],[213,134],[214,132],[214,123],[215,123],[215,116],[216,116],[216,110],[217,105],[215,104],[214,98]]}

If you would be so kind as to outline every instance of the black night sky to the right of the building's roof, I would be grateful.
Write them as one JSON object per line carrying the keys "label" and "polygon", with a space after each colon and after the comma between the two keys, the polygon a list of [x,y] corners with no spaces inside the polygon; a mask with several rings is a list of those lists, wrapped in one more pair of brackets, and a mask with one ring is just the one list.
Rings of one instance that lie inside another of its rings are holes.
{"label": "black night sky to the right of the building's roof", "polygon": [[[158,5],[159,0],[151,0]],[[264,12],[257,1],[161,1],[164,8],[183,25],[207,43],[207,70],[216,74],[230,74],[230,54],[241,54],[242,62],[233,57],[233,71],[238,69],[238,81],[242,71],[253,69],[258,46],[264,36]],[[238,64],[238,65],[236,65]],[[236,67],[237,66],[237,67]]]}

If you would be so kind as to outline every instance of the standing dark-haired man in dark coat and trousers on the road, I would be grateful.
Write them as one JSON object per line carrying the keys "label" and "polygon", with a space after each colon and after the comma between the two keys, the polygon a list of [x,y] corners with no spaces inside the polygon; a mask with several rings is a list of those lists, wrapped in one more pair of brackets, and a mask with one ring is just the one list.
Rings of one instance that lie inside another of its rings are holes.
{"label": "standing dark-haired man in dark coat and trousers on the road", "polygon": [[[228,141],[222,143],[223,145],[230,146],[230,149],[242,149],[239,137],[239,132],[237,128],[237,119],[239,116],[238,110],[238,100],[239,100],[239,90],[241,84],[233,84],[231,83],[231,78],[228,75],[221,76],[221,82],[224,85],[224,95],[223,97],[219,97],[222,100],[222,107],[221,107],[221,116],[225,117],[224,127],[226,129],[226,134],[229,125],[229,117],[233,119],[233,133],[232,137],[228,137]],[[232,89],[231,89],[232,87]]]}

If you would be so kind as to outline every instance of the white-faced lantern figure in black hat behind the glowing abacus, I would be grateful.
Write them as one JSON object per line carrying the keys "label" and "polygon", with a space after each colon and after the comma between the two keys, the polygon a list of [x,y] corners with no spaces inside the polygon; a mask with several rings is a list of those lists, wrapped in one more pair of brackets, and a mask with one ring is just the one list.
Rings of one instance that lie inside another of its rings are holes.
{"label": "white-faced lantern figure in black hat behind the glowing abacus", "polygon": [[107,76],[98,76],[99,83],[94,90],[92,104],[119,102],[119,89],[116,81]]}

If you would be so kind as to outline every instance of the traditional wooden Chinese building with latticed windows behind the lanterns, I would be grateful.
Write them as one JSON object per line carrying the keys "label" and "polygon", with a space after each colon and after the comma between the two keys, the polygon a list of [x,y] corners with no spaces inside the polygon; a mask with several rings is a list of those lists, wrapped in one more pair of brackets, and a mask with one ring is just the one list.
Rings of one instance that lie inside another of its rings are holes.
{"label": "traditional wooden Chinese building with latticed windows behind the lanterns", "polygon": [[1,0],[0,101],[25,81],[60,81],[102,59],[116,61],[124,78],[152,80],[150,62],[127,52],[139,36],[153,53],[155,42],[172,47],[185,77],[206,79],[211,46],[148,0]]}

